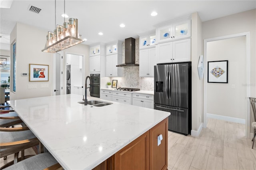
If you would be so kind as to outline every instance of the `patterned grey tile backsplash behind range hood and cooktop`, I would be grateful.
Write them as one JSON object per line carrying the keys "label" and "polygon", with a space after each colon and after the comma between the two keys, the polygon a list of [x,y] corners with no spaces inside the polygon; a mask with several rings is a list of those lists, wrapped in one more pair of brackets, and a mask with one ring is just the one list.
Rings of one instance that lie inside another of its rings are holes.
{"label": "patterned grey tile backsplash behind range hood and cooktop", "polygon": [[[124,42],[122,44],[123,62],[124,63]],[[139,64],[139,39],[135,40],[135,60]],[[152,77],[139,77],[139,67],[123,67],[123,77],[112,77],[112,80],[118,80],[118,87],[127,88],[140,88],[140,90],[154,90],[154,78]]]}

